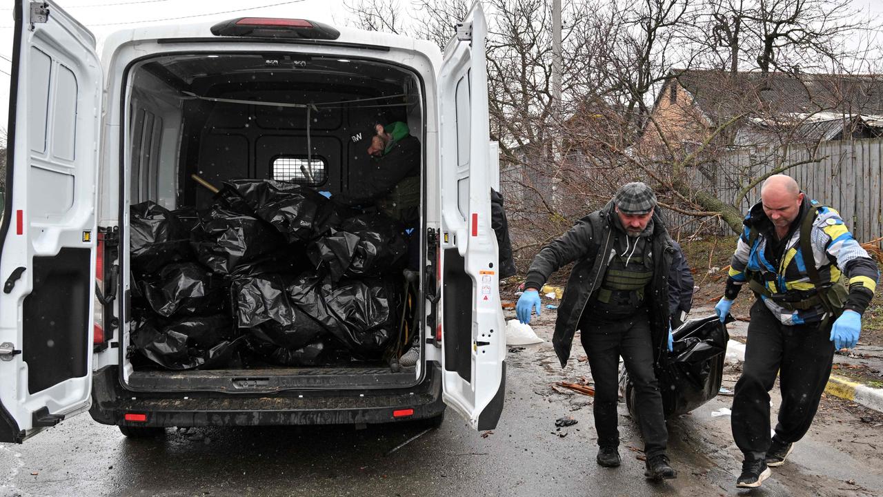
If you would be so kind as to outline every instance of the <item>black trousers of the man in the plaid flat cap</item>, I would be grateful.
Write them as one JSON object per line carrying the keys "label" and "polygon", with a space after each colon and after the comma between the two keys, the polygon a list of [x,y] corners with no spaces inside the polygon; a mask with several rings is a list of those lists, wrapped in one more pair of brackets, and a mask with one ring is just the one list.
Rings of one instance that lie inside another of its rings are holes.
{"label": "black trousers of the man in the plaid flat cap", "polygon": [[653,371],[653,343],[646,310],[615,322],[592,322],[583,316],[580,340],[589,358],[595,381],[593,411],[599,446],[618,446],[616,401],[619,399],[619,357],[623,356],[635,388],[638,422],[647,457],[665,453],[668,431],[662,412],[662,395]]}

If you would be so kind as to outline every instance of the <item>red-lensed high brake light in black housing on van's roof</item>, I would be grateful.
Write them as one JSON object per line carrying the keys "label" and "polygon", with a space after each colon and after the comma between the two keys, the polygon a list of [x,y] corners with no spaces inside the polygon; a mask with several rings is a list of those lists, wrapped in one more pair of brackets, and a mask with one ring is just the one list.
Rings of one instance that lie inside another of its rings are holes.
{"label": "red-lensed high brake light in black housing on van's roof", "polygon": [[230,19],[215,24],[211,31],[215,36],[250,36],[255,38],[336,40],[340,37],[340,31],[334,27],[306,19]]}

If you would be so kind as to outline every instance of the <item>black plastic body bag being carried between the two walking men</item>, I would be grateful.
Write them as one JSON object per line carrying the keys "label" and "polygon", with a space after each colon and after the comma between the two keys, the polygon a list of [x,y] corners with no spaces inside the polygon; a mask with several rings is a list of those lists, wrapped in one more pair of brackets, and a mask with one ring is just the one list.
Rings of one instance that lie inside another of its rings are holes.
{"label": "black plastic body bag being carried between the two walking men", "polygon": [[[732,321],[732,317],[728,319]],[[665,417],[687,414],[717,396],[721,390],[729,333],[717,316],[691,319],[674,333],[668,364],[657,369]],[[620,377],[632,417],[637,417],[628,373]]]}

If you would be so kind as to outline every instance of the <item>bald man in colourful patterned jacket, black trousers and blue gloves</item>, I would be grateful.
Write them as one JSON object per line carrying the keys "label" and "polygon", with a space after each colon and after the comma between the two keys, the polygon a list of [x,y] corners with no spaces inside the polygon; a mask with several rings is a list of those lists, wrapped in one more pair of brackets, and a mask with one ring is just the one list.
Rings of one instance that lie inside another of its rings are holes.
{"label": "bald man in colourful patterned jacket, black trousers and blue gloves", "polygon": [[[736,244],[721,321],[744,284],[751,307],[732,428],[742,450],[736,486],[753,488],[781,466],[819,408],[834,350],[853,348],[878,271],[836,210],[810,200],[792,178],[771,176]],[[770,437],[770,396],[779,372],[781,406]]]}

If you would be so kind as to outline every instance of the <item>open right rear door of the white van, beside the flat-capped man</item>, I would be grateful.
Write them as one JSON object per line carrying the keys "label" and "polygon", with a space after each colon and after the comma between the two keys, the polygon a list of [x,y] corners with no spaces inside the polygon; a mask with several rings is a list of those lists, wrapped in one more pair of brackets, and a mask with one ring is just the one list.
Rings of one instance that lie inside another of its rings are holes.
{"label": "open right rear door of the white van, beside the flat-capped man", "polygon": [[506,352],[490,218],[486,34],[476,2],[439,75],[443,396],[477,430],[494,428],[502,412]]}

